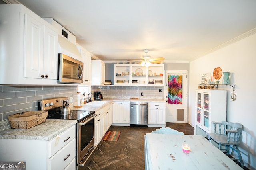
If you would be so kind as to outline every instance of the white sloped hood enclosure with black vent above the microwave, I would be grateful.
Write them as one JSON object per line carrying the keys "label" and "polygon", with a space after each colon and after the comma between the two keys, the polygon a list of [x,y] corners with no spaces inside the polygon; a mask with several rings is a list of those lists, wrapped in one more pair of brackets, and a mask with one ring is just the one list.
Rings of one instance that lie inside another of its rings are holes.
{"label": "white sloped hood enclosure with black vent above the microwave", "polygon": [[[59,23],[53,20],[53,18],[44,18],[48,23],[52,24],[58,30],[58,53],[67,55],[77,60],[81,60],[81,54],[76,46],[76,36],[70,33],[67,29],[62,27]],[[68,34],[67,37],[62,35],[62,32]]]}

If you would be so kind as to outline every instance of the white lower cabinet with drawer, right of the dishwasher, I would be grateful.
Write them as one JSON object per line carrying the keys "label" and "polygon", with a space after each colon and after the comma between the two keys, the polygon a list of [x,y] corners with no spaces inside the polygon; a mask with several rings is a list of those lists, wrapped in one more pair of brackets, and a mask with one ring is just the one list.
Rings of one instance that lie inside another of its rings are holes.
{"label": "white lower cabinet with drawer, right of the dishwasher", "polygon": [[165,127],[165,102],[148,102],[148,127]]}

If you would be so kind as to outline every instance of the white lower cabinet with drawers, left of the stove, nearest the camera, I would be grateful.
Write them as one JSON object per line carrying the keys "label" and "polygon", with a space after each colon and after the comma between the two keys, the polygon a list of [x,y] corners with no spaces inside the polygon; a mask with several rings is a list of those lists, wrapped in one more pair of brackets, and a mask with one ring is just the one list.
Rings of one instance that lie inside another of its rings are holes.
{"label": "white lower cabinet with drawers, left of the stove, nearest the camera", "polygon": [[0,161],[23,161],[28,170],[75,170],[75,135],[76,127],[73,125],[50,141],[1,139],[0,150],[6,154],[1,154]]}

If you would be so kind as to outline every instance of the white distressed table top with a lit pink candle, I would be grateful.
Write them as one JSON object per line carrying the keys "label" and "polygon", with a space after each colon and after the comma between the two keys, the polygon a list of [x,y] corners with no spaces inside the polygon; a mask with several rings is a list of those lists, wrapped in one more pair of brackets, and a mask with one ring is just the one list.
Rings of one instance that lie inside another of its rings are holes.
{"label": "white distressed table top with a lit pink candle", "polygon": [[[188,154],[182,143],[190,144]],[[242,170],[201,135],[145,135],[146,170]]]}

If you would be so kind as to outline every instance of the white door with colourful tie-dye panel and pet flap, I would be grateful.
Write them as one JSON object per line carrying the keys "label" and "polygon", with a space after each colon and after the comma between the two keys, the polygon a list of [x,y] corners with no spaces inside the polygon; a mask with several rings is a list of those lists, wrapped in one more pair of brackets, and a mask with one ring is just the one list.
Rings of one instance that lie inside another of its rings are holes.
{"label": "white door with colourful tie-dye panel and pet flap", "polygon": [[187,71],[166,70],[164,79],[166,122],[186,123]]}

